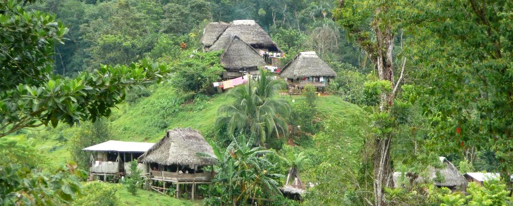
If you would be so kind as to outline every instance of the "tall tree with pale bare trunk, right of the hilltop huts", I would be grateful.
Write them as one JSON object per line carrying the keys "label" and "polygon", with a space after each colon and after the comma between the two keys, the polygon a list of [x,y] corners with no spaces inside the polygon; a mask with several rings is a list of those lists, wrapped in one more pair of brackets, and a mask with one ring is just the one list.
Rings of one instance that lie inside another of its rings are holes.
{"label": "tall tree with pale bare trunk, right of the hilltop huts", "polygon": [[379,81],[369,85],[379,90],[379,114],[371,117],[375,127],[372,134],[375,206],[386,205],[383,189],[393,186],[390,150],[396,122],[390,113],[406,63],[403,59],[400,77],[395,81],[394,45],[405,23],[400,14],[408,6],[407,1],[339,1],[339,8],[334,12],[337,23],[361,47],[378,74]]}

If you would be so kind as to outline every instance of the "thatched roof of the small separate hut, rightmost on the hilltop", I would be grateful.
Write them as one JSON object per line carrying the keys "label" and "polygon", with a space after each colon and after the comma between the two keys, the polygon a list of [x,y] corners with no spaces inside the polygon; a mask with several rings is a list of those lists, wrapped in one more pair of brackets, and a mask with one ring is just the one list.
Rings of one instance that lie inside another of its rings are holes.
{"label": "thatched roof of the small separate hut, rightmost on the hilltop", "polygon": [[337,77],[337,73],[321,60],[315,51],[300,52],[287,63],[280,74],[282,78]]}

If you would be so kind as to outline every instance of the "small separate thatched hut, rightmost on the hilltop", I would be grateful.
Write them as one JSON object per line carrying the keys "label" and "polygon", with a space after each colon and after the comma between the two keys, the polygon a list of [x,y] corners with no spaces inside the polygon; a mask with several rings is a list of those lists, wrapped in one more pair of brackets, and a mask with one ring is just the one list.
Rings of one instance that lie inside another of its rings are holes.
{"label": "small separate thatched hut, rightmost on the hilltop", "polygon": [[315,51],[300,52],[287,63],[280,73],[285,78],[289,93],[301,93],[305,85],[311,84],[324,89],[330,78],[337,77],[337,73],[317,56]]}

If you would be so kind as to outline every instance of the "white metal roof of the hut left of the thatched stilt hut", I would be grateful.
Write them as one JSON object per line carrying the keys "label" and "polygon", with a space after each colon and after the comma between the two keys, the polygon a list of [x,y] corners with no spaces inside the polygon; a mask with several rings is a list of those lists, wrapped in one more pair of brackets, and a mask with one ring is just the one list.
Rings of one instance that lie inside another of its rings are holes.
{"label": "white metal roof of the hut left of the thatched stilt hut", "polygon": [[109,140],[97,145],[83,148],[85,151],[116,151],[116,152],[146,152],[155,143],[150,142],[123,142]]}

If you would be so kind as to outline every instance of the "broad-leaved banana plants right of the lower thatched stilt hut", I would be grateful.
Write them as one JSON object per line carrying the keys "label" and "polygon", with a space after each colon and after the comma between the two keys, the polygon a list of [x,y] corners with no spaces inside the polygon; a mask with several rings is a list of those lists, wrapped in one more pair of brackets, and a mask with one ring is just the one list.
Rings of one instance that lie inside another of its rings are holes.
{"label": "broad-leaved banana plants right of the lower thatched stilt hut", "polygon": [[284,175],[272,173],[275,165],[266,158],[266,155],[276,152],[261,146],[253,147],[254,141],[254,137],[246,139],[242,135],[238,140],[233,137],[224,155],[216,152],[214,157],[200,153],[213,158],[224,158],[219,159],[221,163],[214,179],[221,191],[212,194],[219,196],[222,202],[239,205],[247,202],[249,198],[254,201],[262,197],[282,197],[277,180]]}

